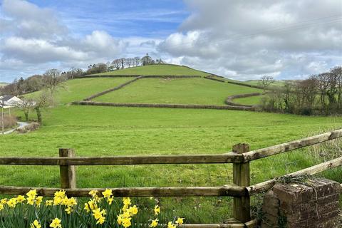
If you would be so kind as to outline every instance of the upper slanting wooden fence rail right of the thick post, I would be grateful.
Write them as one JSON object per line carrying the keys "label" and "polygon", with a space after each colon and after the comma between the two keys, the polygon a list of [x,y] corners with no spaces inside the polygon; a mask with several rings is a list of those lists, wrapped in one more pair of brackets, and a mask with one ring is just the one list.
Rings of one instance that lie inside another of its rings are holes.
{"label": "upper slanting wooden fence rail right of the thick post", "polygon": [[311,136],[309,138],[303,138],[301,140],[295,140],[292,142],[286,142],[280,145],[274,145],[271,147],[266,147],[259,150],[252,150],[250,152],[245,152],[244,155],[244,162],[248,162],[251,160],[257,160],[262,157],[269,157],[271,155],[277,155],[282,152],[287,152],[290,150],[296,150],[301,147],[307,147],[309,145],[315,145],[320,142],[326,142],[328,140],[333,140],[336,138],[342,137],[342,129],[333,130],[329,133],[324,133],[321,135]]}

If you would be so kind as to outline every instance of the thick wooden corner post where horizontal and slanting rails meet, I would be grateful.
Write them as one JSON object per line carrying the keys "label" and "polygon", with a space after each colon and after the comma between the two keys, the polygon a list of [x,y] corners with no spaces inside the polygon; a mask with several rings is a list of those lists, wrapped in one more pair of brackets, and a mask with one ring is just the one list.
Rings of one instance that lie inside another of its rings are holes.
{"label": "thick wooden corner post where horizontal and slanting rails meet", "polygon": [[[249,151],[247,143],[239,143],[233,146],[233,152],[242,154]],[[235,185],[247,187],[250,185],[249,162],[233,164],[233,182]],[[251,220],[250,198],[234,197],[234,218],[240,222]]]}

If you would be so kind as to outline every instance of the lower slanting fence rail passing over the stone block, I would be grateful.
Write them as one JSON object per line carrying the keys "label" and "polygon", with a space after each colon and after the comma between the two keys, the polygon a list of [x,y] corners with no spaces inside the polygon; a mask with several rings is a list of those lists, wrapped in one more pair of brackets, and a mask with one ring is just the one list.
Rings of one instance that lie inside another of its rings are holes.
{"label": "lower slanting fence rail passing over the stone block", "polygon": [[[304,175],[304,174],[308,174],[308,175],[314,175],[318,172],[323,172],[325,170],[330,170],[333,167],[338,167],[342,165],[342,157],[338,157],[334,160],[330,160],[328,162],[323,162],[321,164],[318,165],[314,165],[311,167],[308,167],[304,170],[299,170],[297,172],[292,172],[288,175],[284,175],[284,177],[286,176],[296,176],[296,175]],[[249,192],[249,195],[257,195],[261,192],[266,192],[267,190],[270,190],[274,185],[276,184],[276,178],[272,179],[272,180],[267,180],[265,182],[261,182],[259,184],[256,185],[252,185],[247,187],[247,191]]]}

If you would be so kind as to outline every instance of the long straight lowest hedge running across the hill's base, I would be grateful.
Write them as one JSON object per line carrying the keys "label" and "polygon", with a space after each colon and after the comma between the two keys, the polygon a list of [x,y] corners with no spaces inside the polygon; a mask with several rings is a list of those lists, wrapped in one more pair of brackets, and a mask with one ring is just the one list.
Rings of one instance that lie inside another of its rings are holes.
{"label": "long straight lowest hedge running across the hill's base", "polygon": [[148,103],[106,103],[95,101],[75,101],[73,105],[98,105],[112,107],[135,107],[135,108],[185,108],[185,109],[217,109],[217,110],[251,110],[253,107],[236,105],[182,105],[182,104],[148,104]]}

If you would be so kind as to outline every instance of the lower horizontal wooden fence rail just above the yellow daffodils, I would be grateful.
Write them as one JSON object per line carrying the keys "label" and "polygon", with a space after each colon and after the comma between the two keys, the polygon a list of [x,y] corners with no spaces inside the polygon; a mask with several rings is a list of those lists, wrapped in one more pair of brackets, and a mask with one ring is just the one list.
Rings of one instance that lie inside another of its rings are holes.
{"label": "lower horizontal wooden fence rail just above the yellow daffodils", "polygon": [[[115,197],[215,197],[246,195],[244,187],[224,185],[219,187],[119,187],[108,188]],[[0,186],[0,194],[24,195],[29,190],[37,190],[38,195],[52,197],[61,188]],[[69,197],[89,197],[90,190],[103,192],[105,188],[65,189]]]}

